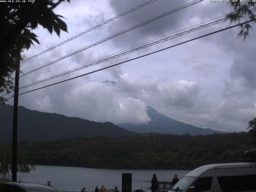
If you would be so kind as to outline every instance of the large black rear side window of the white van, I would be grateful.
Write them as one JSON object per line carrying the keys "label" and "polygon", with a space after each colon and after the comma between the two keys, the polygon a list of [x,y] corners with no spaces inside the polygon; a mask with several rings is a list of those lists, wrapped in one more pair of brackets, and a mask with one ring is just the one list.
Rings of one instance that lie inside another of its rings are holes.
{"label": "large black rear side window of the white van", "polygon": [[222,192],[256,191],[256,175],[217,177]]}

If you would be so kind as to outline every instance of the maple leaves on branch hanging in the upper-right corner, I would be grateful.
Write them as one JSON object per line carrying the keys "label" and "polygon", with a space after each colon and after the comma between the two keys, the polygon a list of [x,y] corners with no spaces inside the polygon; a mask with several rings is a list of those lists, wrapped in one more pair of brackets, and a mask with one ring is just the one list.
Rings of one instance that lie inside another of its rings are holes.
{"label": "maple leaves on branch hanging in the upper-right corner", "polygon": [[[230,5],[232,7],[232,12],[227,15],[227,19],[230,19],[230,22],[239,22],[241,18],[246,18],[248,20],[252,20],[254,23],[256,22],[256,15],[254,14],[255,10],[255,1],[254,2],[248,2],[248,3],[241,3],[239,2],[230,2]],[[244,14],[245,13],[245,14]],[[240,32],[238,33],[238,36],[244,36],[244,40],[246,36],[249,35],[249,29],[251,25],[249,23],[246,24],[240,24]]]}

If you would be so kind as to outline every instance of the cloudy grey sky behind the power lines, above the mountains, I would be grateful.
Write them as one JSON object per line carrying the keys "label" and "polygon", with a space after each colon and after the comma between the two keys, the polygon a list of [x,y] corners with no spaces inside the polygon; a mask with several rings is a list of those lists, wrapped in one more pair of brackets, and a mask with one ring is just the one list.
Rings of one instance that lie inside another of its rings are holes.
{"label": "cloudy grey sky behind the power lines, above the mountains", "polygon": [[[62,2],[54,12],[65,17],[63,20],[68,26],[68,33],[62,31],[58,37],[56,33],[50,34],[38,26],[33,32],[38,36],[40,45],[35,43],[24,55],[30,58],[144,2],[146,0]],[[192,1],[157,0],[21,64],[20,69],[26,73],[189,2]],[[224,18],[230,11],[226,2],[212,3],[204,0],[21,77],[20,86],[164,36],[178,34],[212,19]],[[197,30],[20,89],[20,93],[136,58],[228,26],[230,21]],[[246,131],[248,122],[256,116],[255,31],[256,24],[252,24],[246,40],[237,37],[240,32],[238,27],[212,34],[106,70],[22,94],[19,96],[19,105],[31,110],[76,116],[96,122],[110,121],[114,124],[149,122],[150,117],[146,113],[149,105],[161,114],[194,126],[228,132]],[[115,83],[104,83],[106,80]],[[13,99],[7,103],[13,105]]]}

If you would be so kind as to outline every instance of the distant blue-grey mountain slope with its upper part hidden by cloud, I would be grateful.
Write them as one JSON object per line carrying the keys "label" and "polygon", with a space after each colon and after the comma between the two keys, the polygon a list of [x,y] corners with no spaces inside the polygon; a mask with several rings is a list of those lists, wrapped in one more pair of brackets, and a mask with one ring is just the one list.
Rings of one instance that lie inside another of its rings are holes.
{"label": "distant blue-grey mountain slope with its upper part hidden by cloud", "polygon": [[156,132],[163,134],[190,134],[190,135],[206,135],[214,133],[225,133],[210,128],[199,128],[190,124],[186,124],[180,121],[176,121],[165,115],[158,113],[157,110],[148,106],[147,114],[151,118],[151,121],[147,124],[132,125],[132,124],[118,124],[118,126],[139,133]]}

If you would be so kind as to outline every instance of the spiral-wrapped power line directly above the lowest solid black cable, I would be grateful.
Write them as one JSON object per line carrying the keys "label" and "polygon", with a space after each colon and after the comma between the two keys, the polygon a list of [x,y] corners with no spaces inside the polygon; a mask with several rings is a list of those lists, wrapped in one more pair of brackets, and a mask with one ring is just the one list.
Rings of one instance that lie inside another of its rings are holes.
{"label": "spiral-wrapped power line directly above the lowest solid black cable", "polygon": [[177,38],[177,37],[180,37],[180,36],[182,36],[182,35],[184,35],[184,34],[188,34],[188,33],[190,33],[190,32],[193,32],[193,31],[196,31],[196,30],[200,30],[200,29],[202,29],[202,28],[206,28],[206,27],[209,27],[209,26],[212,26],[212,25],[215,25],[215,24],[224,22],[224,21],[226,21],[226,18],[223,18],[223,19],[220,19],[220,20],[217,20],[217,21],[214,21],[214,22],[210,22],[210,23],[208,23],[208,24],[199,26],[199,27],[197,27],[197,28],[192,28],[192,29],[190,29],[190,30],[188,30],[188,31],[184,31],[184,32],[179,33],[179,34],[175,34],[175,35],[173,35],[173,36],[169,36],[169,37],[167,37],[167,38],[160,39],[160,40],[155,41],[155,42],[152,42],[152,43],[150,43],[150,44],[146,44],[146,45],[144,45],[144,46],[140,46],[140,47],[138,47],[138,48],[134,48],[134,49],[132,49],[132,50],[129,50],[129,51],[126,51],[126,52],[122,52],[122,53],[120,53],[120,54],[116,54],[116,55],[111,56],[111,57],[108,57],[108,58],[104,58],[104,59],[102,59],[102,60],[98,60],[97,62],[92,62],[91,64],[84,65],[84,66],[79,67],[79,68],[75,68],[74,70],[68,70],[67,72],[63,72],[63,73],[60,73],[60,74],[56,74],[55,76],[52,76],[52,77],[50,77],[50,78],[46,78],[46,79],[44,79],[44,80],[40,80],[40,81],[37,81],[37,82],[28,83],[28,85],[22,86],[22,87],[20,87],[20,89],[22,89],[22,88],[28,88],[28,87],[34,86],[34,85],[36,85],[36,84],[40,84],[40,83],[43,83],[43,82],[46,82],[46,81],[49,81],[49,80],[53,80],[53,79],[55,79],[55,78],[58,78],[58,77],[61,77],[61,76],[70,74],[70,73],[72,73],[72,72],[76,72],[76,71],[82,70],[82,69],[84,69],[84,68],[88,68],[88,67],[91,67],[91,66],[100,64],[100,63],[102,63],[102,62],[106,62],[106,61],[108,61],[108,60],[112,60],[112,59],[114,59],[114,58],[118,58],[118,57],[124,56],[124,55],[126,55],[126,54],[130,54],[130,53],[132,53],[132,52],[135,52],[135,51],[138,51],[138,50],[141,50],[141,49],[144,49],[144,48],[147,48],[147,47],[150,47],[150,46],[153,46],[153,45],[162,43],[162,42],[166,42],[166,41],[168,41],[168,40],[172,40],[172,39]]}

